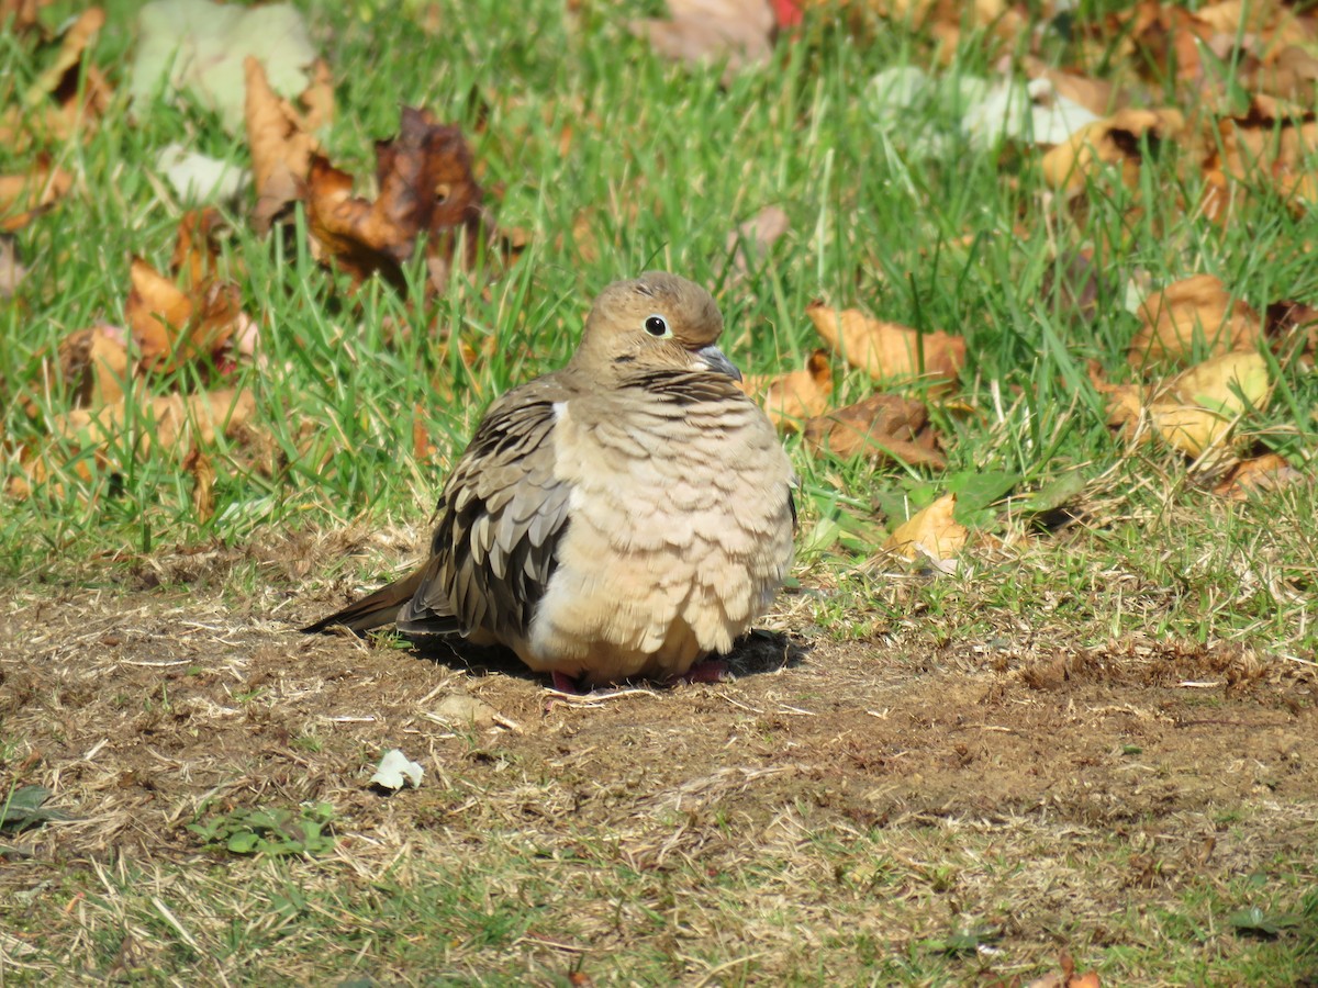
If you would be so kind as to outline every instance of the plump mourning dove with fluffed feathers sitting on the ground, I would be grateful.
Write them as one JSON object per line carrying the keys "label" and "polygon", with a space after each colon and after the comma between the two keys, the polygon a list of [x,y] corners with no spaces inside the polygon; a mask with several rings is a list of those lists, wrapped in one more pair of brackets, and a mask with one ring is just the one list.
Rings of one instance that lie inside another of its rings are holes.
{"label": "plump mourning dove with fluffed feathers sitting on the ground", "polygon": [[684,278],[606,287],[567,366],[490,406],[430,560],[304,631],[461,635],[556,685],[677,677],[728,652],[787,573],[795,478],[721,331]]}

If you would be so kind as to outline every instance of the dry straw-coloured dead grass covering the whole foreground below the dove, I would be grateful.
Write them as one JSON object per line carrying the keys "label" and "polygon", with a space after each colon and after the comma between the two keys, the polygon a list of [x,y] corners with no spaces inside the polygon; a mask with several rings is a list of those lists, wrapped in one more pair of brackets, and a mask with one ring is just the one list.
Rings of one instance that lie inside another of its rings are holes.
{"label": "dry straw-coloured dead grass covering the whole foreground below the dove", "polygon": [[[1311,927],[1226,925],[1314,884],[1309,664],[1085,645],[1046,614],[960,640],[878,622],[760,635],[734,682],[564,702],[498,656],[294,634],[319,609],[301,576],[345,539],[8,595],[4,781],[76,819],[8,839],[7,977],[941,984],[1056,970],[1061,948],[1104,983],[1314,972]],[[274,584],[233,606],[221,589],[252,573]],[[821,599],[768,623],[809,628]],[[493,717],[436,713],[455,694]],[[389,747],[422,789],[366,786]],[[203,854],[186,829],[303,801],[333,805],[333,854]],[[938,950],[965,930],[978,952]]]}

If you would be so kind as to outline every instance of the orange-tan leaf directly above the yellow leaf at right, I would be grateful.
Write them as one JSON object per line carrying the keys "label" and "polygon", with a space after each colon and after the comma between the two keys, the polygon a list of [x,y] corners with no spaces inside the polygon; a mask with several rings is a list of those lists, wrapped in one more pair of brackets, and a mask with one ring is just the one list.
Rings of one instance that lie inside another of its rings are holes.
{"label": "orange-tan leaf directly above the yellow leaf at right", "polygon": [[1263,320],[1246,302],[1232,299],[1222,279],[1197,274],[1168,285],[1140,304],[1144,325],[1131,341],[1133,368],[1181,364],[1195,349],[1210,354],[1252,349]]}

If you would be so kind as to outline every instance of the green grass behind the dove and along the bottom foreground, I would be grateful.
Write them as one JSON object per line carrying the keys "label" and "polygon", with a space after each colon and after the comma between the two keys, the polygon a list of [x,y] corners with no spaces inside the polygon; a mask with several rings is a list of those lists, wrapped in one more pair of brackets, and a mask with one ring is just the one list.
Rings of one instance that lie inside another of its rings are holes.
{"label": "green grass behind the dove and along the bottom foreground", "polygon": [[[1224,228],[1194,216],[1174,194],[1194,202],[1201,179],[1177,146],[1148,159],[1137,191],[1115,179],[1095,182],[1073,213],[1045,194],[1031,157],[962,137],[954,100],[933,100],[884,132],[867,80],[894,65],[932,63],[929,40],[902,26],[857,38],[838,25],[813,24],[800,40],[780,43],[768,66],[725,87],[718,67],[672,66],[626,32],[629,17],[652,13],[656,4],[588,0],[569,22],[564,5],[550,0],[515,5],[515,16],[496,0],[445,3],[434,37],[416,28],[422,4],[390,13],[368,3],[301,5],[336,80],[336,116],[324,134],[332,161],[368,175],[372,142],[397,132],[398,107],[428,107],[461,125],[482,183],[501,190],[492,196],[500,227],[530,232],[526,252],[494,283],[459,277],[428,300],[380,283],[348,295],[344,279],[310,257],[302,227],[289,242],[260,240],[244,203],[228,216],[224,260],[246,312],[262,323],[268,366],[240,370],[236,383],[258,397],[273,472],[244,465],[241,451],[221,443],[214,454],[216,511],[204,522],[195,515],[190,478],[166,454],[125,454],[119,472],[66,477],[62,489],[26,501],[0,498],[7,581],[50,584],[54,594],[117,588],[162,547],[249,544],[289,528],[353,522],[422,523],[443,465],[460,452],[484,404],[561,365],[590,296],[608,282],[667,267],[716,292],[728,317],[726,349],[751,373],[800,366],[820,345],[805,316],[820,298],[969,340],[954,400],[933,411],[948,474],[815,457],[797,439],[787,440],[801,477],[799,576],[830,590],[808,609],[812,634],[978,643],[1004,624],[1028,628],[1049,614],[1069,623],[1078,644],[1139,632],[1313,660],[1311,482],[1261,501],[1224,502],[1174,453],[1131,451],[1114,437],[1086,374],[1093,360],[1114,379],[1130,379],[1126,348],[1137,319],[1124,299],[1132,282],[1157,286],[1210,271],[1260,310],[1278,299],[1318,298],[1318,269],[1307,257],[1311,213],[1260,195]],[[1094,16],[1093,7],[1082,4],[1077,16]],[[58,4],[45,18],[55,24],[70,9]],[[111,4],[95,47],[94,61],[109,67],[115,82],[132,51],[134,9]],[[1058,37],[1044,47],[1057,63],[1073,54]],[[30,49],[7,37],[0,76],[34,78],[43,62]],[[940,71],[987,74],[990,62],[988,46],[969,36]],[[564,128],[572,140],[560,153]],[[931,136],[941,150],[925,155],[920,142]],[[78,184],[17,234],[32,274],[0,303],[7,443],[45,441],[42,423],[29,420],[18,400],[20,389],[37,379],[38,354],[96,320],[123,324],[132,256],[166,266],[179,209],[159,194],[152,162],[175,140],[235,161],[246,155],[241,136],[223,133],[214,116],[186,100],[162,100],[129,124],[123,96],[95,132],[49,148]],[[0,173],[21,171],[30,158],[29,150],[0,148]],[[786,209],[791,229],[750,277],[737,279],[728,234],[767,206]],[[1102,258],[1098,304],[1083,317],[1049,287],[1078,249]],[[418,282],[420,273],[410,277]],[[472,371],[445,345],[460,339],[478,346],[488,337],[493,353]],[[873,391],[858,371],[844,371],[840,362],[836,369],[837,404]],[[166,390],[169,382],[145,386]],[[38,407],[42,415],[67,410],[59,394],[40,395]],[[436,464],[413,457],[418,407],[439,447]],[[1271,408],[1244,427],[1307,472],[1318,439],[1318,379],[1289,366]],[[17,468],[8,469],[13,476]],[[1072,506],[1082,524],[1057,537],[1027,536],[1012,506],[995,503],[975,518],[981,531],[1006,539],[1006,548],[973,549],[953,577],[896,578],[873,561],[886,530],[900,520],[887,508],[920,507],[950,483],[990,470],[1019,476],[1016,495],[1078,472],[1086,486]],[[378,576],[353,574],[366,582]],[[225,574],[223,589],[241,601],[277,578],[249,560]],[[261,705],[260,690],[241,684],[233,698]],[[124,705],[167,707],[169,697],[125,696]],[[312,727],[294,740],[308,752],[320,744]],[[12,747],[16,752],[18,742]],[[8,739],[0,754],[12,761]],[[120,856],[71,864],[37,918],[24,921],[14,909],[4,918],[18,933],[49,923],[62,943],[76,942],[66,952],[54,942],[43,946],[43,960],[78,976],[121,975],[141,984],[194,968],[217,980],[387,981],[427,972],[442,984],[515,984],[527,976],[526,938],[577,935],[613,943],[608,970],[638,983],[695,983],[718,970],[726,984],[762,977],[817,984],[830,970],[826,952],[795,946],[775,955],[772,967],[758,967],[754,945],[737,934],[787,941],[815,921],[812,909],[826,906],[838,922],[822,948],[846,956],[858,981],[974,977],[982,959],[934,945],[979,923],[1010,927],[1012,902],[995,883],[1027,867],[1024,851],[1003,850],[985,835],[915,830],[928,842],[928,862],[913,862],[909,848],[888,855],[886,831],[855,839],[821,830],[808,860],[793,848],[742,868],[729,855],[729,869],[717,875],[692,856],[675,860],[671,875],[638,872],[610,858],[596,835],[568,850],[492,834],[463,856],[423,834],[418,840],[436,863],[416,855],[370,876],[336,859],[249,867],[182,855],[148,873]],[[1118,859],[1131,852],[1094,842],[1077,851],[1074,872],[1116,881],[1124,867]],[[784,873],[797,883],[795,898],[784,893]],[[1098,926],[1106,941],[1094,931],[1093,914],[1081,910],[1083,922],[1072,921],[1058,909],[1058,938],[1083,939],[1104,983],[1311,977],[1318,964],[1307,891],[1313,856],[1277,860],[1269,875],[1263,889],[1247,877],[1220,884],[1182,875],[1173,906],[1104,917]],[[973,894],[960,896],[971,881]],[[1083,896],[1083,881],[1075,883],[1072,891]],[[705,938],[696,956],[684,958],[687,929],[672,889],[691,888],[700,889],[700,916],[745,922],[721,948],[710,947],[717,938]],[[186,935],[153,894],[183,917]],[[588,904],[585,919],[576,912],[580,901]],[[747,902],[755,910],[743,917]],[[1224,941],[1215,927],[1220,917],[1255,904],[1307,910],[1307,918],[1276,941]],[[874,921],[884,909],[888,926]],[[948,917],[945,927],[925,926],[934,913]],[[631,929],[645,933],[634,952]],[[534,974],[563,983],[575,956],[565,948],[561,970]],[[605,967],[598,954],[592,964],[597,972]]]}

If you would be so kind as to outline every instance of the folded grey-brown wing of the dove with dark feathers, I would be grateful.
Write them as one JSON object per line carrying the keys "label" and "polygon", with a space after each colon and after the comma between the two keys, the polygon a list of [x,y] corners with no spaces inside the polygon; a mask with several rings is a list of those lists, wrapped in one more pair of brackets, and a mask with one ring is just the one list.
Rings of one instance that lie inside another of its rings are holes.
{"label": "folded grey-brown wing of the dove with dark feathers", "polygon": [[556,404],[550,375],[496,402],[444,485],[431,560],[398,615],[403,634],[526,636],[558,565],[571,485],[555,477]]}

